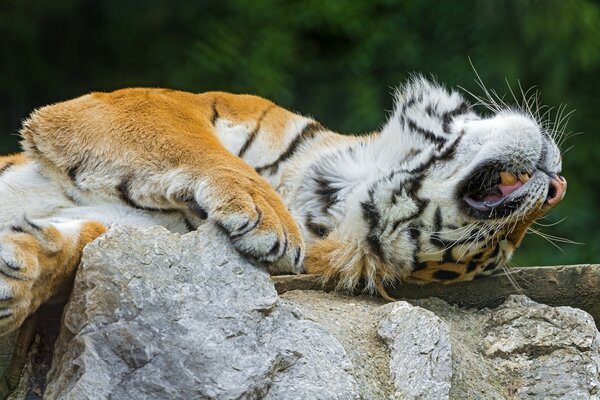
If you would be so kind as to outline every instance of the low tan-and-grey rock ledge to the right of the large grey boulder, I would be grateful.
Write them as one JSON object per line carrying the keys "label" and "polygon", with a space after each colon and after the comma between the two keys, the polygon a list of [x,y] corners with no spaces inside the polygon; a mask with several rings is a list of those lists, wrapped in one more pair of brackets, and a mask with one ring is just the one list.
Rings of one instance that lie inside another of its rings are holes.
{"label": "low tan-and-grey rock ledge to the right of the large grey boulder", "polygon": [[342,343],[363,398],[597,397],[600,333],[578,309],[525,296],[491,310],[436,298],[385,304],[314,290],[281,296]]}

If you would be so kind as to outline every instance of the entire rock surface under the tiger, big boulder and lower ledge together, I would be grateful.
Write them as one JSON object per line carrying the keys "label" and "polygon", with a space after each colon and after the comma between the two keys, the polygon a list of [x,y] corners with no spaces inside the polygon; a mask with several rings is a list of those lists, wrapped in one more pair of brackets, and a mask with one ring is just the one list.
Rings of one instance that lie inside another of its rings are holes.
{"label": "entire rock surface under the tiger, big boulder and lower ledge together", "polygon": [[45,399],[589,399],[600,334],[570,307],[278,296],[210,226],[88,246]]}

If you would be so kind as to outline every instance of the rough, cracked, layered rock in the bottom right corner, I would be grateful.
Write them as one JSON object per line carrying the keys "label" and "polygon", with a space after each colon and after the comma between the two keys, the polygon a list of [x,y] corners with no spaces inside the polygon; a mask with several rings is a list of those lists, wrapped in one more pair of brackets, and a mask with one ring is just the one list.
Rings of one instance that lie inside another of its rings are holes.
{"label": "rough, cracked, layered rock in the bottom right corner", "polygon": [[521,378],[517,398],[590,399],[600,386],[600,334],[592,317],[511,296],[491,313],[484,354]]}

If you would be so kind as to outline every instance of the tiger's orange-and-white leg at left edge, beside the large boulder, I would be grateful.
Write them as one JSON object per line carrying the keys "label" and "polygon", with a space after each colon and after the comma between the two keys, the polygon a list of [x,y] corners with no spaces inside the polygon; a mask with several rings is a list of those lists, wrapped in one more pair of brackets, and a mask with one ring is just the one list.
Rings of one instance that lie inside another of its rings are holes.
{"label": "tiger's orange-and-white leg at left edge, beside the large boulder", "polygon": [[95,221],[19,217],[0,231],[0,335],[46,301],[68,295],[86,244],[106,231]]}

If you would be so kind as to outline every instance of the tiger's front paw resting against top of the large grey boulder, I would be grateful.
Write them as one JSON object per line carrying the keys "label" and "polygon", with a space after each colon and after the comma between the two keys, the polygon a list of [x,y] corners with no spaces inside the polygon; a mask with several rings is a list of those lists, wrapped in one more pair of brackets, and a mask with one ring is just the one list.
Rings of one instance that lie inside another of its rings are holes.
{"label": "tiger's front paw resting against top of the large grey boulder", "polygon": [[275,191],[260,177],[219,174],[198,190],[199,204],[243,255],[267,263],[272,273],[300,273],[304,240]]}

